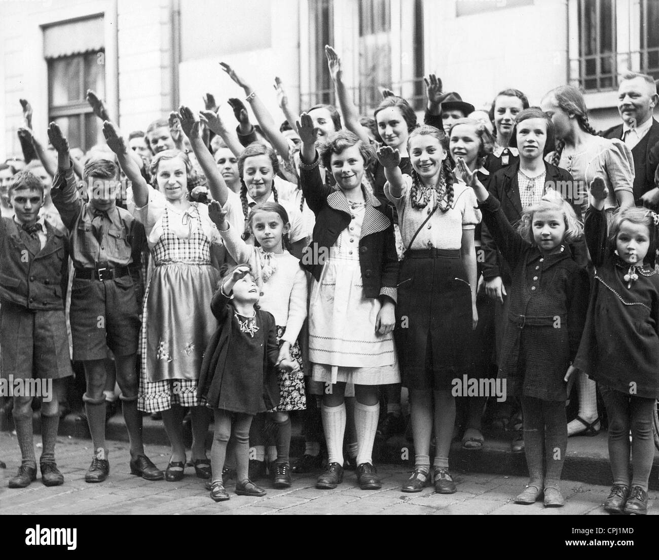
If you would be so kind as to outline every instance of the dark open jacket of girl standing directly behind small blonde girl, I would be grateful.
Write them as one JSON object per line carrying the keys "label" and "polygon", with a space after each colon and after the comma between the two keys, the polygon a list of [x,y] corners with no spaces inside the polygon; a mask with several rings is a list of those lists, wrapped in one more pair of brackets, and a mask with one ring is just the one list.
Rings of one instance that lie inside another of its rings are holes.
{"label": "dark open jacket of girl standing directly behind small blonde girl", "polygon": [[[545,175],[545,185],[557,185],[560,181],[566,184],[565,181],[569,181],[569,185],[574,183],[572,175],[570,175],[565,169],[561,167],[556,167],[547,161],[544,162],[544,167],[546,169]],[[501,168],[499,171],[490,175],[490,182],[488,184],[488,190],[492,195],[500,201],[501,210],[503,215],[508,219],[509,223],[513,226],[517,225],[519,219],[522,217],[522,202],[519,197],[519,184],[517,182],[517,172],[519,171],[519,159],[513,163],[513,165],[508,165],[507,167]],[[571,196],[565,196],[565,198],[575,211],[579,207],[578,200],[571,200]],[[567,194],[571,194],[568,192]],[[485,280],[491,280],[496,276],[501,276],[503,283],[509,285],[511,282],[511,273],[510,268],[501,256],[500,251],[497,248],[496,242],[492,235],[488,231],[487,223],[483,221],[481,230],[480,230],[480,239],[481,246],[484,252],[485,262],[483,263],[483,278]],[[584,242],[578,242],[572,244],[570,247],[573,255],[577,258],[579,264],[585,265],[587,262],[587,254],[585,249]]]}

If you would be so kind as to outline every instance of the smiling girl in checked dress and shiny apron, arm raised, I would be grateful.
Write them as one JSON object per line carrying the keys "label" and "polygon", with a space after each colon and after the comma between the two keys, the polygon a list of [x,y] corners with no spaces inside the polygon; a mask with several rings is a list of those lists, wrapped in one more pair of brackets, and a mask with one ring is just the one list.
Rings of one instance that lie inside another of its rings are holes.
{"label": "smiling girl in checked dress and shiny apron, arm raised", "polygon": [[112,123],[103,134],[132,181],[129,209],[144,225],[154,272],[144,294],[142,368],[138,408],[162,411],[171,458],[165,479],[183,478],[183,406],[192,414],[192,462],[197,476],[210,476],[206,459],[209,418],[196,396],[202,356],[214,331],[210,309],[218,273],[210,261],[221,237],[208,217],[208,206],[187,199],[192,169],[183,152],[163,150],[151,162],[153,188],[142,178]]}

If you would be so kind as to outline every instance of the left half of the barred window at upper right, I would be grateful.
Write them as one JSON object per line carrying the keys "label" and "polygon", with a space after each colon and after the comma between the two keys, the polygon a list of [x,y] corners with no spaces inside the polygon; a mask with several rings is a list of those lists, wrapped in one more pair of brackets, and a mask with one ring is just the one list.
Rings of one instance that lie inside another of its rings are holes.
{"label": "left half of the barred window at upper right", "polygon": [[579,82],[587,91],[617,86],[616,1],[579,0]]}

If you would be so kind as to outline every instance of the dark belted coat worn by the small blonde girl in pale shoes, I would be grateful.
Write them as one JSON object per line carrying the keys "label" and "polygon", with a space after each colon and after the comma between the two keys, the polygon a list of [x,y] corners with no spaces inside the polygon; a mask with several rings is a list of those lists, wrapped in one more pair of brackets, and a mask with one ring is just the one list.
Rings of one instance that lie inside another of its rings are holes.
{"label": "dark belted coat worn by the small blonde girl in pale shoes", "polygon": [[490,194],[483,220],[513,273],[499,375],[509,395],[565,401],[563,378],[579,348],[588,300],[588,273],[565,245],[544,256],[519,236]]}

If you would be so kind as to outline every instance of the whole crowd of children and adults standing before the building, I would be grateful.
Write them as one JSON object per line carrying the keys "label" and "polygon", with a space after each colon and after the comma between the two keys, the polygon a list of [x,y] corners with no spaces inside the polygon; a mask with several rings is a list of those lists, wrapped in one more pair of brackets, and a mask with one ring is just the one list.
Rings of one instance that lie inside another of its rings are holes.
{"label": "whole crowd of children and adults standing before the building", "polygon": [[[293,115],[277,78],[281,126],[225,63],[246,96],[229,99],[235,132],[207,94],[199,113],[182,106],[123,136],[90,91],[105,143],[83,154],[55,123],[45,147],[20,100],[32,161],[0,165],[1,368],[52,380],[43,484],[64,482],[55,441],[75,370],[94,446],[86,482],[109,476],[116,382],[136,476],[177,481],[193,466],[215,501],[229,499],[230,478],[235,493],[264,495],[266,464],[274,488],[323,466],[319,489],[346,468],[378,489],[374,442],[404,432],[405,387],[415,456],[402,491],[454,493],[451,443],[481,449],[488,417],[515,430],[513,451],[526,455],[515,503],[560,507],[567,438],[599,432],[605,411],[614,486],[604,507],[646,513],[659,173],[635,181],[633,150],[659,126],[652,78],[622,76],[621,136],[592,128],[572,86],[540,107],[509,88],[474,110],[434,74],[420,124],[391,92],[360,117],[339,55],[326,55],[340,114],[321,104]],[[652,175],[659,143],[645,144]],[[456,396],[463,376],[505,379],[507,400]],[[579,412],[568,424],[572,383]],[[22,464],[10,488],[36,480],[32,400],[13,397]],[[169,437],[164,472],[144,451],[144,413]],[[306,441],[292,467],[291,414]]]}

